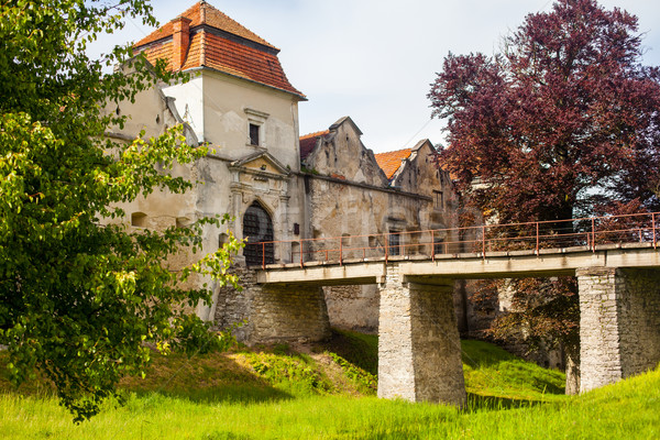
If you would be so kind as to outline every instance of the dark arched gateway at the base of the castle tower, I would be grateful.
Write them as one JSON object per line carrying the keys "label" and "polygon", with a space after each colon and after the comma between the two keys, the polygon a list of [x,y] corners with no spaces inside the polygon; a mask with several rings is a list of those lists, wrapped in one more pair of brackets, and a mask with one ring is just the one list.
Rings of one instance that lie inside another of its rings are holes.
{"label": "dark arched gateway at the base of the castle tower", "polygon": [[243,238],[248,239],[243,249],[248,266],[275,263],[273,220],[258,201],[254,201],[245,210]]}

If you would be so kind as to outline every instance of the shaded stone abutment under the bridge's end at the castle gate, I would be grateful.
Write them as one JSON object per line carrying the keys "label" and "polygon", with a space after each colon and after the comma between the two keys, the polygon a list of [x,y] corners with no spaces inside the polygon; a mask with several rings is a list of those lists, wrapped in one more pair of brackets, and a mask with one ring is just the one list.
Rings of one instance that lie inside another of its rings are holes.
{"label": "shaded stone abutment under the bridge's end at the castle gate", "polygon": [[321,287],[253,287],[248,324],[250,343],[309,342],[330,337]]}

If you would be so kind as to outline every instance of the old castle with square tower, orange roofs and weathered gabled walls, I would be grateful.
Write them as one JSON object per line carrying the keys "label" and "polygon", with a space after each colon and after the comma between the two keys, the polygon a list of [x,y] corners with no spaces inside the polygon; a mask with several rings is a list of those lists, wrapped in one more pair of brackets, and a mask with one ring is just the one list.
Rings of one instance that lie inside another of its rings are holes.
{"label": "old castle with square tower, orange roofs and weathered gabled walls", "polygon": [[[349,117],[300,136],[298,110],[306,97],[284,74],[279,50],[206,1],[134,48],[151,63],[164,59],[169,69],[191,77],[187,82],[160,84],[140,92],[135,102],[111,109],[130,118],[108,135],[129,141],[141,131],[158,135],[183,123],[187,142],[208,143],[213,152],[191,167],[175,169],[202,183],[191,191],[154,194],[125,206],[127,218],[121,221],[128,227],[161,229],[229,213],[237,238],[249,244],[267,243],[246,245],[235,258],[249,287],[250,267],[290,263],[318,252],[310,239],[365,235],[364,246],[414,252],[406,244],[419,238],[405,232],[453,224],[451,179],[437,167],[429,140],[374,155]],[[377,235],[382,233],[392,234],[388,243]],[[443,239],[433,238],[438,243]],[[207,228],[204,252],[216,251],[224,240],[223,231]],[[193,257],[179,255],[174,265]],[[308,302],[298,308],[311,314],[311,321],[323,321],[319,338],[330,324],[377,329],[376,285],[332,286],[305,295]],[[257,296],[250,288],[238,294],[216,286],[213,304],[199,305],[196,312],[219,327],[248,320],[240,336],[249,341],[276,338],[258,330],[267,322],[260,324],[263,305]],[[464,295],[454,296],[457,307],[466,307]]]}

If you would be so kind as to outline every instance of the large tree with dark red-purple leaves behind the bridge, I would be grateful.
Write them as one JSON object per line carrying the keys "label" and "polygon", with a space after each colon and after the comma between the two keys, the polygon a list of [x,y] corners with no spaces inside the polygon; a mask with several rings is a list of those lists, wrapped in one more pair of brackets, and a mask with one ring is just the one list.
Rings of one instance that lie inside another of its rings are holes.
{"label": "large tree with dark red-purple leaves behind the bridge", "polygon": [[[660,70],[641,55],[637,18],[595,0],[527,15],[495,56],[449,54],[429,98],[448,124],[441,165],[466,202],[501,223],[657,210]],[[563,342],[573,360],[574,285],[549,301],[521,288],[513,305],[520,319],[542,306],[529,336]]]}

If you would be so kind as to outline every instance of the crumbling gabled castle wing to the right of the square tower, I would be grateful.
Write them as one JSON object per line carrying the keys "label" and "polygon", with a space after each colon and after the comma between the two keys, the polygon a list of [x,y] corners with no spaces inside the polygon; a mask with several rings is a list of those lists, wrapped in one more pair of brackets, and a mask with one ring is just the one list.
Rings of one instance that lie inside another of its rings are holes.
{"label": "crumbling gabled castle wing to the right of the square tower", "polygon": [[[385,246],[396,254],[415,255],[422,251],[416,243],[442,246],[450,241],[443,232],[433,238],[418,233],[451,228],[455,211],[450,178],[436,165],[431,142],[422,140],[413,148],[374,155],[362,144],[361,134],[346,117],[300,139],[307,172],[307,237],[351,235],[343,243],[349,249],[346,258],[369,257]],[[333,244],[311,242],[309,252],[322,253],[319,246]],[[324,292],[333,327],[377,331],[376,285],[332,286]]]}

